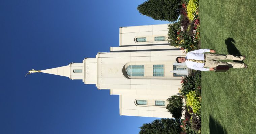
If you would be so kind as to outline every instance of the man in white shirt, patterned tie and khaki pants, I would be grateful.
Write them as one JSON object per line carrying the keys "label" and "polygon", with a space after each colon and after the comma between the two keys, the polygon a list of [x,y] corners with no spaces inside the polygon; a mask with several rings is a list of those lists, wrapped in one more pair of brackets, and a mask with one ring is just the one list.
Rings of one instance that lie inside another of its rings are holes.
{"label": "man in white shirt, patterned tie and khaki pants", "polygon": [[[211,52],[204,54],[205,52]],[[247,65],[240,62],[222,62],[217,60],[237,60],[242,61],[245,56],[214,54],[213,49],[199,49],[188,52],[186,57],[177,57],[178,63],[185,62],[187,67],[200,71],[213,71],[219,65],[228,65],[233,68],[247,68]]]}

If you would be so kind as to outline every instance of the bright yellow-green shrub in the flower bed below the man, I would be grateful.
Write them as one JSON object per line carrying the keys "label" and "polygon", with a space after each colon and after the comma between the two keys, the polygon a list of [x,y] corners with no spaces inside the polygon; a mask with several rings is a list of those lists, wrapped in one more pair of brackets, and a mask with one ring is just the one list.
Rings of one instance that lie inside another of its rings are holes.
{"label": "bright yellow-green shrub in the flower bed below the man", "polygon": [[200,98],[197,97],[196,92],[191,91],[186,96],[187,96],[187,100],[186,100],[187,105],[192,107],[194,113],[199,112],[201,109],[201,101],[200,101]]}

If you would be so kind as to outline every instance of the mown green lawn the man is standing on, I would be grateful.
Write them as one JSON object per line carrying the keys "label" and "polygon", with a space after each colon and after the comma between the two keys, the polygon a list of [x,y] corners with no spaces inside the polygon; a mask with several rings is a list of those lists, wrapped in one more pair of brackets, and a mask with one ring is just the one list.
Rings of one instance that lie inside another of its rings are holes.
{"label": "mown green lawn the man is standing on", "polygon": [[201,48],[246,55],[248,64],[202,72],[202,134],[255,134],[255,0],[200,0],[200,29]]}

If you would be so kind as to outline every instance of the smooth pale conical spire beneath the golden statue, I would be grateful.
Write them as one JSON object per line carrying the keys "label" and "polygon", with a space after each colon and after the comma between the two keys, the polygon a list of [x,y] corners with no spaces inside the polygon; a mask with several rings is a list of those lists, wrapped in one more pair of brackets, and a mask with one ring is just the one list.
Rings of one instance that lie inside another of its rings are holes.
{"label": "smooth pale conical spire beneath the golden statue", "polygon": [[41,70],[40,72],[69,77],[69,74],[70,74],[69,69],[70,69],[70,67],[69,67],[69,65],[67,65],[67,66],[62,66],[62,67]]}

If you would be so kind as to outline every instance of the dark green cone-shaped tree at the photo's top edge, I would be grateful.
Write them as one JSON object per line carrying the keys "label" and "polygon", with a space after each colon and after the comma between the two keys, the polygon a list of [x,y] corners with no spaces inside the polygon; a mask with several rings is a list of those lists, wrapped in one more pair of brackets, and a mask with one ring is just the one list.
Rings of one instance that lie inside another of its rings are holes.
{"label": "dark green cone-shaped tree at the photo's top edge", "polygon": [[148,0],[137,9],[155,20],[176,21],[180,15],[181,0]]}

